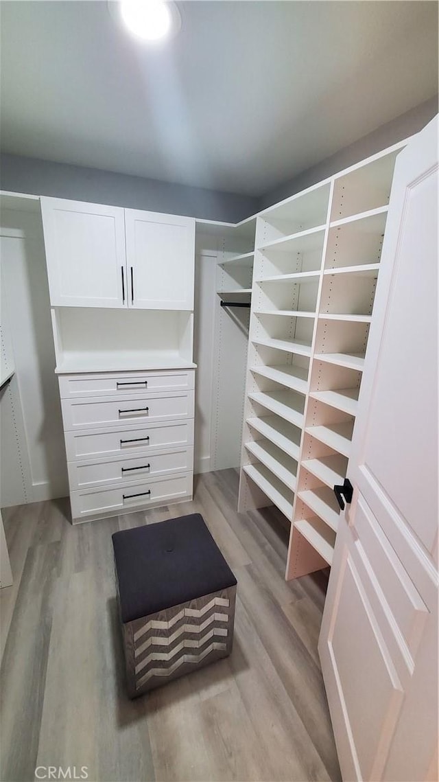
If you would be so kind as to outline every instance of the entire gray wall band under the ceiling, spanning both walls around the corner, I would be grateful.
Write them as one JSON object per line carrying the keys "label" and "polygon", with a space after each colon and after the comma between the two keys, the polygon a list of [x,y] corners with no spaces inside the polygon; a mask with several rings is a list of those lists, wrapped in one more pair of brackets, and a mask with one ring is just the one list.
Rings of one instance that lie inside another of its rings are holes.
{"label": "entire gray wall band under the ceiling, spanning both walls around the corner", "polygon": [[7,154],[0,155],[0,185],[3,190],[12,192],[237,222],[417,133],[436,113],[437,96],[260,198]]}

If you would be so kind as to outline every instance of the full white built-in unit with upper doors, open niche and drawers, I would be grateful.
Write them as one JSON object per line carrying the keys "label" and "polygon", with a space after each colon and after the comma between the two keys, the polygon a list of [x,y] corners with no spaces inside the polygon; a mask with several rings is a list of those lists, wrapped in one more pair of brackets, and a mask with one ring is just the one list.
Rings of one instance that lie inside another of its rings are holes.
{"label": "full white built-in unit with upper doors, open niche and drawers", "polygon": [[195,221],[41,211],[73,523],[191,500]]}

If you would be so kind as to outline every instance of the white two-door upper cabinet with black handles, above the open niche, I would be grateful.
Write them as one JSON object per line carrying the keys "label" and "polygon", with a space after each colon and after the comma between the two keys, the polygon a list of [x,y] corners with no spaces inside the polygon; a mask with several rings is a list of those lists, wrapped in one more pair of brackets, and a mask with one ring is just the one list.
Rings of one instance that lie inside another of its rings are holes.
{"label": "white two-door upper cabinet with black handles, above the open niche", "polygon": [[192,310],[195,220],[41,198],[52,307]]}

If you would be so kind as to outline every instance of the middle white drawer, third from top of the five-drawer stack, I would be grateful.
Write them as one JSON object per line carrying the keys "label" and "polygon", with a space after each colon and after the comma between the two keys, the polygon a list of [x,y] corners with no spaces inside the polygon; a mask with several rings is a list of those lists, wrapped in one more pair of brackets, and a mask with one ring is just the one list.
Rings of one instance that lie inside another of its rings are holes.
{"label": "middle white drawer, third from top of the five-drawer stack", "polygon": [[112,456],[132,457],[153,454],[157,450],[187,447],[194,444],[194,419],[130,426],[122,431],[111,429],[83,429],[64,432],[67,461],[77,459],[107,459]]}

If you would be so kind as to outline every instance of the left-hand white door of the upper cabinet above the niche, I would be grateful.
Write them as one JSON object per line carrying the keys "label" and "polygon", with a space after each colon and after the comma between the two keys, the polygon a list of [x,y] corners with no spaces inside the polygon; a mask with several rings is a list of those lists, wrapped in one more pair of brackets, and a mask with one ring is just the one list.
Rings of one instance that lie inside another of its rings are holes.
{"label": "left-hand white door of the upper cabinet above the niche", "polygon": [[41,198],[52,307],[127,307],[123,209]]}

